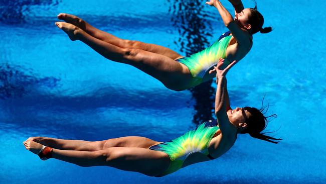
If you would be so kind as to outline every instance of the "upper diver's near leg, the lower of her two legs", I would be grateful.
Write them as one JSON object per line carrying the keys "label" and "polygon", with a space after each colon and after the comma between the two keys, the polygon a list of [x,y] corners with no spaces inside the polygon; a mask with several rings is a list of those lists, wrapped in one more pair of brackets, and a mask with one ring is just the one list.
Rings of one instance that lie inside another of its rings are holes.
{"label": "upper diver's near leg, the lower of her two legs", "polygon": [[173,90],[188,88],[192,80],[189,69],[167,56],[140,49],[117,47],[113,44],[96,39],[80,28],[65,22],[57,22],[58,28],[67,33],[71,40],[80,40],[105,58],[132,65],[161,81]]}

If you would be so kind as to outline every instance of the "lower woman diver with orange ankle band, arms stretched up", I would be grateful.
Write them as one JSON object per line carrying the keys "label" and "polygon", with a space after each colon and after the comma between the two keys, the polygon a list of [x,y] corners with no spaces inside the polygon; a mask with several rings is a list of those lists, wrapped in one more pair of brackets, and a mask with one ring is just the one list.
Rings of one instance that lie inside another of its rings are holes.
{"label": "lower woman diver with orange ankle band, arms stretched up", "polygon": [[[54,158],[79,166],[110,166],[148,176],[164,176],[190,164],[212,160],[227,152],[238,134],[277,143],[261,133],[267,119],[262,110],[244,107],[231,109],[226,88],[226,73],[233,61],[223,69],[224,59],[215,66],[217,120],[205,122],[184,135],[168,142],[145,137],[120,137],[103,141],[62,140],[30,137],[23,142],[26,149],[42,160]],[[49,162],[51,163],[51,162]]]}

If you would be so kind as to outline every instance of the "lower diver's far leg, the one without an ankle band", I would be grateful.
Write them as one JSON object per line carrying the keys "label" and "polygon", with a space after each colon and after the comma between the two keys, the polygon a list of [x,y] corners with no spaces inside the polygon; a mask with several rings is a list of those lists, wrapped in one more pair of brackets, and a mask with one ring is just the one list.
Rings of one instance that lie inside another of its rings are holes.
{"label": "lower diver's far leg, the one without an ankle band", "polygon": [[30,137],[26,141],[29,140],[55,149],[75,151],[98,151],[110,147],[138,147],[148,149],[150,146],[160,143],[146,137],[137,136],[119,137],[103,141],[66,140],[50,137]]}

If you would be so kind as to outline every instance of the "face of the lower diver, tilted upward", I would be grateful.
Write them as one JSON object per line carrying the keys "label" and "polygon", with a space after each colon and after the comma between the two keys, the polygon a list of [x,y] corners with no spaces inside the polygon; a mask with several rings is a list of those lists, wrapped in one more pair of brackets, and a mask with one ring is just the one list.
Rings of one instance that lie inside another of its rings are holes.
{"label": "face of the lower diver, tilted upward", "polygon": [[236,127],[239,126],[239,123],[245,123],[246,119],[248,119],[251,116],[249,111],[238,107],[233,110],[229,110],[227,112],[227,115],[229,121]]}

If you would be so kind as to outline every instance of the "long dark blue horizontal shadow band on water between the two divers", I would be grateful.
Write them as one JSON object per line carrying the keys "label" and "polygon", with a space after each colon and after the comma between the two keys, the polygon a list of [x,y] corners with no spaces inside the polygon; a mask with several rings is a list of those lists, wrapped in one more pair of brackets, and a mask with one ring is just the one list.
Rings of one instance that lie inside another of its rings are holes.
{"label": "long dark blue horizontal shadow band on water between the two divers", "polygon": [[[12,85],[12,84],[10,84]],[[31,84],[30,84],[31,85]],[[41,84],[42,85],[42,84]],[[34,87],[38,87],[35,85]],[[40,86],[39,86],[40,87]],[[183,95],[158,95],[159,90],[135,90],[133,93],[125,93],[121,95],[123,89],[104,87],[98,90],[92,91],[92,93],[82,94],[79,96],[60,96],[56,94],[42,94],[41,91],[34,90],[24,93],[26,89],[24,86],[15,86],[5,88],[6,93],[2,93],[2,99],[9,97],[22,97],[12,98],[9,102],[11,106],[23,107],[23,108],[36,108],[36,109],[49,109],[56,111],[72,111],[79,112],[85,110],[94,110],[98,108],[123,108],[127,110],[142,110],[148,109],[155,111],[172,111],[185,107],[188,99]],[[21,93],[18,90],[22,89]],[[17,95],[19,93],[19,95]],[[7,95],[8,94],[8,95]],[[143,95],[145,94],[145,95]],[[23,100],[22,100],[23,99]],[[131,100],[132,99],[132,100]],[[171,101],[171,99],[174,99]],[[4,101],[4,103],[7,103]],[[162,104],[165,104],[162,106]]]}

